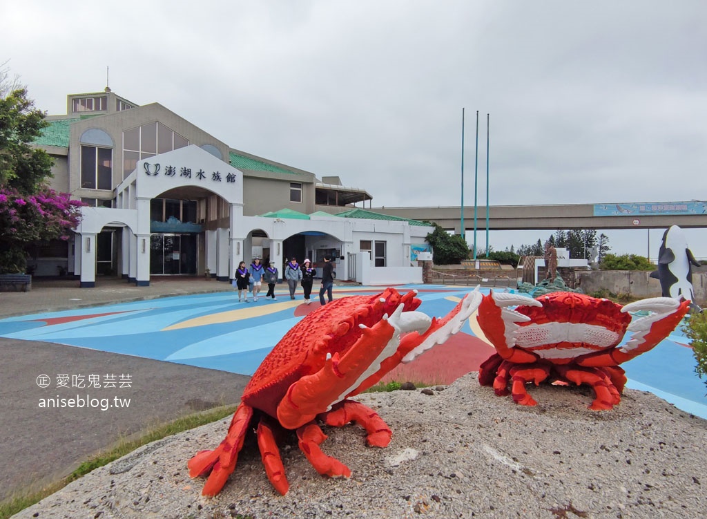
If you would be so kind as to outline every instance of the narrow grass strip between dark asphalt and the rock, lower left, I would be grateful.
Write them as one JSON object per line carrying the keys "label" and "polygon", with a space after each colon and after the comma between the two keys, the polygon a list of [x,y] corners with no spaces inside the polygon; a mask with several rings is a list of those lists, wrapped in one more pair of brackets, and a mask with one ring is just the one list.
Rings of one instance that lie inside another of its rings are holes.
{"label": "narrow grass strip between dark asphalt and the rock, lower left", "polygon": [[61,481],[56,481],[48,486],[45,486],[40,491],[28,492],[26,494],[18,494],[11,496],[0,502],[0,519],[8,519],[12,515],[24,510],[28,506],[38,503],[42,499],[54,492],[64,488],[64,486],[75,481],[76,479],[88,474],[98,467],[103,467],[119,457],[129,454],[138,447],[147,445],[156,440],[161,440],[168,436],[181,433],[182,431],[193,429],[195,427],[204,426],[207,423],[212,423],[235,413],[236,406],[222,406],[201,413],[182,416],[174,421],[159,424],[150,428],[146,433],[139,435],[137,438],[119,440],[115,447],[99,452],[97,455],[90,457],[85,462],[81,463],[74,472],[65,477]]}

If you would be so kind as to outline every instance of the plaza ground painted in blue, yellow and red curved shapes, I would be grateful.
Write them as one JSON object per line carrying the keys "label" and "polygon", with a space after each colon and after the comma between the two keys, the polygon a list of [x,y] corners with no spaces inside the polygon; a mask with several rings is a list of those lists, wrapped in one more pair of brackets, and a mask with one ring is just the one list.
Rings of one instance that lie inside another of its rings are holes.
{"label": "plaza ground painted in blue, yellow and red curved shapes", "polygon": [[[406,285],[418,290],[420,310],[442,316],[469,290],[442,285]],[[337,287],[334,297],[376,294],[380,287]],[[482,289],[483,292],[488,290]],[[235,293],[167,297],[110,306],[51,312],[0,320],[0,336],[47,341],[125,355],[252,375],[282,336],[318,302],[290,300],[238,302]],[[471,326],[442,346],[402,365],[384,381],[448,384],[493,353]],[[623,365],[628,387],[657,394],[679,409],[707,418],[706,387],[694,373],[694,358],[682,331]]]}

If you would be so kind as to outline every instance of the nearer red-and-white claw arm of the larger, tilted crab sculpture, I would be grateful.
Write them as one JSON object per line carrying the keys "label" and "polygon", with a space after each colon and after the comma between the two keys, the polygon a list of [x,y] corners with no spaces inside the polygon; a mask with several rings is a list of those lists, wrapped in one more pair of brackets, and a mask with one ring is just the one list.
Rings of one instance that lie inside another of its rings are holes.
{"label": "nearer red-and-white claw arm of the larger, tilted crab sculpture", "polygon": [[384,315],[370,328],[360,324],[361,337],[344,355],[327,355],[319,371],[294,382],[277,407],[282,426],[298,428],[329,410],[332,404],[378,372],[383,360],[395,355],[403,333],[428,329],[431,323],[428,316],[421,312],[403,312],[403,308],[404,304],[399,304],[395,312]]}

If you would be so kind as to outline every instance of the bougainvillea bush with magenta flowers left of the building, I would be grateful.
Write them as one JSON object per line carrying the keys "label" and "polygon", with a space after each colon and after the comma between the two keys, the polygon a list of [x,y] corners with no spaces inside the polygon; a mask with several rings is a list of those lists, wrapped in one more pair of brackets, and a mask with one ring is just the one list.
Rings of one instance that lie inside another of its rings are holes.
{"label": "bougainvillea bush with magenta flowers left of the building", "polygon": [[81,222],[83,205],[51,189],[21,195],[17,190],[0,188],[0,274],[25,272],[28,244],[68,240],[71,229]]}

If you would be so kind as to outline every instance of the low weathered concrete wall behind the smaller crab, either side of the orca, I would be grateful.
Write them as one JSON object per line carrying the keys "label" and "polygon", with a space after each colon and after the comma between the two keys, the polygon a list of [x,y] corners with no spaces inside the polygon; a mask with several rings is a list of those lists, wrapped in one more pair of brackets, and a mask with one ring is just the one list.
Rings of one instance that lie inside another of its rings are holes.
{"label": "low weathered concrete wall behind the smaller crab, either side of the orca", "polygon": [[[585,294],[598,290],[609,290],[614,294],[630,294],[633,297],[660,297],[660,282],[650,278],[650,272],[629,270],[591,270],[575,273],[578,286]],[[707,273],[692,273],[692,287],[697,304],[707,306]]]}

